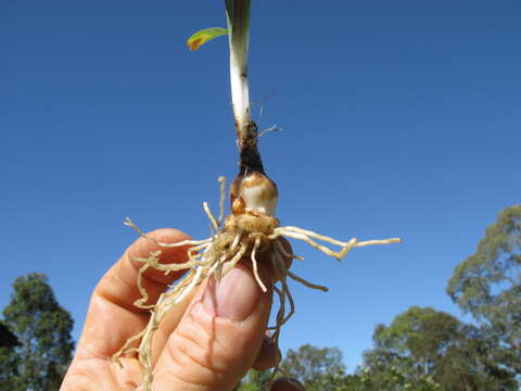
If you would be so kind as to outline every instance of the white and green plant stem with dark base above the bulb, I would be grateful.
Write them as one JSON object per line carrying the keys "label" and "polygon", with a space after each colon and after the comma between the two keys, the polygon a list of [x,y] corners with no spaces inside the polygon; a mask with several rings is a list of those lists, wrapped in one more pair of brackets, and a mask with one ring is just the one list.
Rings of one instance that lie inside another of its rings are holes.
{"label": "white and green plant stem with dark base above the bulb", "polygon": [[247,85],[250,9],[251,0],[226,0],[230,43],[231,102],[240,153],[240,176],[252,172],[264,174],[260,154],[257,149],[257,126],[252,121],[250,112],[250,90]]}

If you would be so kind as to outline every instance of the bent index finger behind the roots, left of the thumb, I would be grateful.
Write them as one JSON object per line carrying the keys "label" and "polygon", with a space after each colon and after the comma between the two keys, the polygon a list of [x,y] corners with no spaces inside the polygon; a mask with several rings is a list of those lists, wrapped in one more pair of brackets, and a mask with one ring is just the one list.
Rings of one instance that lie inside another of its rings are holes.
{"label": "bent index finger behind the roots, left of the thumb", "polygon": [[[158,241],[171,243],[189,239],[186,234],[175,229],[157,229],[149,235]],[[134,305],[134,302],[141,298],[136,281],[142,263],[132,260],[148,257],[157,250],[160,249],[154,242],[140,238],[103,276],[90,301],[77,358],[109,357],[120,349],[128,338],[144,328],[149,313]],[[162,263],[181,263],[187,260],[186,247],[161,250]],[[179,276],[180,273],[165,276],[161,272],[148,269],[142,277],[142,286],[150,297],[148,302],[155,302],[167,285]]]}

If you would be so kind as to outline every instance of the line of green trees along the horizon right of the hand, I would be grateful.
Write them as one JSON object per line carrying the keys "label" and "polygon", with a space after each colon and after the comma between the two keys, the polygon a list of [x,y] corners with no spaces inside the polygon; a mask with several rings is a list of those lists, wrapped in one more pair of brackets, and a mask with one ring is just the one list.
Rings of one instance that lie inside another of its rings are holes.
{"label": "line of green trees along the horizon right of the hand", "polygon": [[[518,391],[521,384],[521,205],[499,213],[447,293],[472,324],[412,306],[378,325],[364,363],[346,374],[341,351],[303,345],[281,363],[306,391]],[[250,371],[240,391],[266,389],[269,371]]]}

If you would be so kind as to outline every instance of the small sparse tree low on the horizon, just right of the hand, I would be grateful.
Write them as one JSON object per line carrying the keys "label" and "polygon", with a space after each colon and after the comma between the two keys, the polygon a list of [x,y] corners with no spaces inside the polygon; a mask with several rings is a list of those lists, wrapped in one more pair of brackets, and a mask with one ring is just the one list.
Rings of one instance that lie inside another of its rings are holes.
{"label": "small sparse tree low on the horizon, just right of the hand", "polygon": [[284,376],[300,380],[306,391],[335,390],[334,382],[345,373],[340,349],[310,344],[300,346],[296,352],[290,349],[280,368]]}

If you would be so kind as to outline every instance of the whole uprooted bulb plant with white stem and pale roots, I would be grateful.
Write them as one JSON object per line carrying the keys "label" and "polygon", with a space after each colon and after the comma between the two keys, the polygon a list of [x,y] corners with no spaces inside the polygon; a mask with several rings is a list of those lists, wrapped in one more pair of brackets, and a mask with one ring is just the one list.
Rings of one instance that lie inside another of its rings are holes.
{"label": "whole uprooted bulb plant with white stem and pale roots", "polygon": [[[266,174],[257,148],[259,137],[257,126],[252,119],[250,110],[250,92],[247,84],[247,48],[250,38],[251,0],[225,0],[228,28],[212,27],[195,33],[187,45],[196,50],[206,41],[221,35],[228,35],[230,48],[230,84],[234,116],[237,144],[239,148],[239,174],[229,189],[230,214],[225,218],[226,181],[219,177],[220,202],[218,216],[215,216],[206,202],[203,209],[211,220],[211,236],[202,240],[186,240],[178,243],[157,242],[148,237],[129,218],[125,224],[132,227],[141,237],[153,240],[158,248],[189,247],[188,261],[185,263],[161,263],[158,250],[144,258],[138,274],[137,286],[141,292],[135,305],[151,312],[148,326],[138,335],[128,339],[122,349],[113,355],[118,362],[123,355],[137,354],[143,373],[142,390],[151,390],[152,384],[152,338],[165,315],[179,304],[204,279],[213,277],[217,281],[231,270],[239,262],[251,262],[252,270],[260,289],[267,288],[258,274],[257,262],[268,260],[269,269],[274,273],[274,291],[278,295],[279,308],[275,325],[268,327],[271,338],[277,344],[281,327],[295,311],[294,301],[288,287],[288,279],[293,279],[308,288],[327,291],[328,288],[315,285],[292,273],[288,265],[292,258],[303,260],[291,254],[284,247],[282,238],[302,240],[310,247],[336,260],[344,257],[350,250],[373,244],[390,244],[398,238],[359,241],[353,238],[347,241],[293,226],[280,226],[276,217],[278,190],[275,181]],[[187,270],[185,277],[163,292],[153,305],[147,305],[149,294],[142,286],[142,275],[154,268],[165,274]],[[277,368],[274,370],[274,375]]]}

